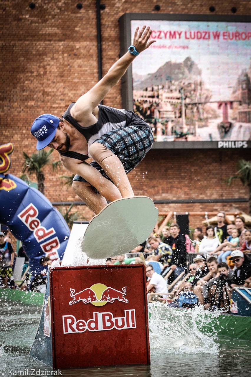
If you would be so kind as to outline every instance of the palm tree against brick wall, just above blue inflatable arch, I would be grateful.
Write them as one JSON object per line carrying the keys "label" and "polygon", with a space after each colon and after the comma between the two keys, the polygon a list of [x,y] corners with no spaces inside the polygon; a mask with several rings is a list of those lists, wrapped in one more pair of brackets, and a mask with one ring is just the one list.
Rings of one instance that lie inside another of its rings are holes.
{"label": "palm tree against brick wall, just above blue inflatable arch", "polygon": [[53,149],[51,148],[48,152],[44,149],[39,150],[37,153],[32,153],[31,156],[28,156],[27,153],[23,152],[24,162],[22,172],[23,174],[20,178],[26,181],[30,181],[29,176],[35,174],[37,178],[38,190],[44,194],[44,173],[43,167],[47,164],[52,165],[52,170],[57,171],[58,167],[61,166],[60,161],[51,162],[51,153]]}

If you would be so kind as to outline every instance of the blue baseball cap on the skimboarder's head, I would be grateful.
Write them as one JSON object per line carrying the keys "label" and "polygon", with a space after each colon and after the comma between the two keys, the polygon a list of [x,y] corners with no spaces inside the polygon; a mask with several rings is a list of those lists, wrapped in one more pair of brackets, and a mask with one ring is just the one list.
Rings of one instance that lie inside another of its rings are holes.
{"label": "blue baseball cap on the skimboarder's head", "polygon": [[31,133],[37,139],[37,149],[43,149],[54,139],[59,118],[52,114],[43,114],[36,118],[31,126]]}

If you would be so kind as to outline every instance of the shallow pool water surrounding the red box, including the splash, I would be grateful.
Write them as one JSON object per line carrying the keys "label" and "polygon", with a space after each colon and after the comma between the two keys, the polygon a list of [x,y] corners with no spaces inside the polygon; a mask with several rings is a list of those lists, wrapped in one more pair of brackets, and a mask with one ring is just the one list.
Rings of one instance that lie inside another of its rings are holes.
{"label": "shallow pool water surrounding the red box, including the splash", "polygon": [[[151,365],[53,370],[30,357],[41,308],[1,302],[0,375],[97,377],[248,377],[251,342],[202,334],[196,320],[207,313],[174,311],[150,305]],[[133,349],[132,349],[133,352]],[[98,357],[98,354],[97,354]],[[56,374],[57,373],[57,374]]]}

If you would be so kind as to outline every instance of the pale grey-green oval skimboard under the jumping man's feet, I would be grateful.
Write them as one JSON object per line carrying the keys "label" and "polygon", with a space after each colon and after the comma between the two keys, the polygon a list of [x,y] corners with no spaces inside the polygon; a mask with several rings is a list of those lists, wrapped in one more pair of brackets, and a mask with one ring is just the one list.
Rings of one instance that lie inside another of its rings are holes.
{"label": "pale grey-green oval skimboard under the jumping man's feet", "polygon": [[89,222],[82,251],[92,259],[126,254],[145,242],[157,219],[158,209],[147,196],[115,200]]}

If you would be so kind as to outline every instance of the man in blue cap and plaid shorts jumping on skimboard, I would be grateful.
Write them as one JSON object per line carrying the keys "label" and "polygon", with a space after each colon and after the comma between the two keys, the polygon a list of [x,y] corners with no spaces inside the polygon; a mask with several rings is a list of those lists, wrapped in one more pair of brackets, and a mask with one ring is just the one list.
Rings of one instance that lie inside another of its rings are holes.
{"label": "man in blue cap and plaid shorts jumping on skimboard", "polygon": [[[153,134],[138,115],[99,103],[125,74],[149,41],[152,30],[136,29],[133,44],[87,93],[69,105],[62,118],[40,115],[31,127],[37,149],[58,150],[63,166],[75,174],[73,189],[98,214],[108,201],[133,197],[127,173],[151,149]],[[85,160],[93,158],[88,164]]]}

